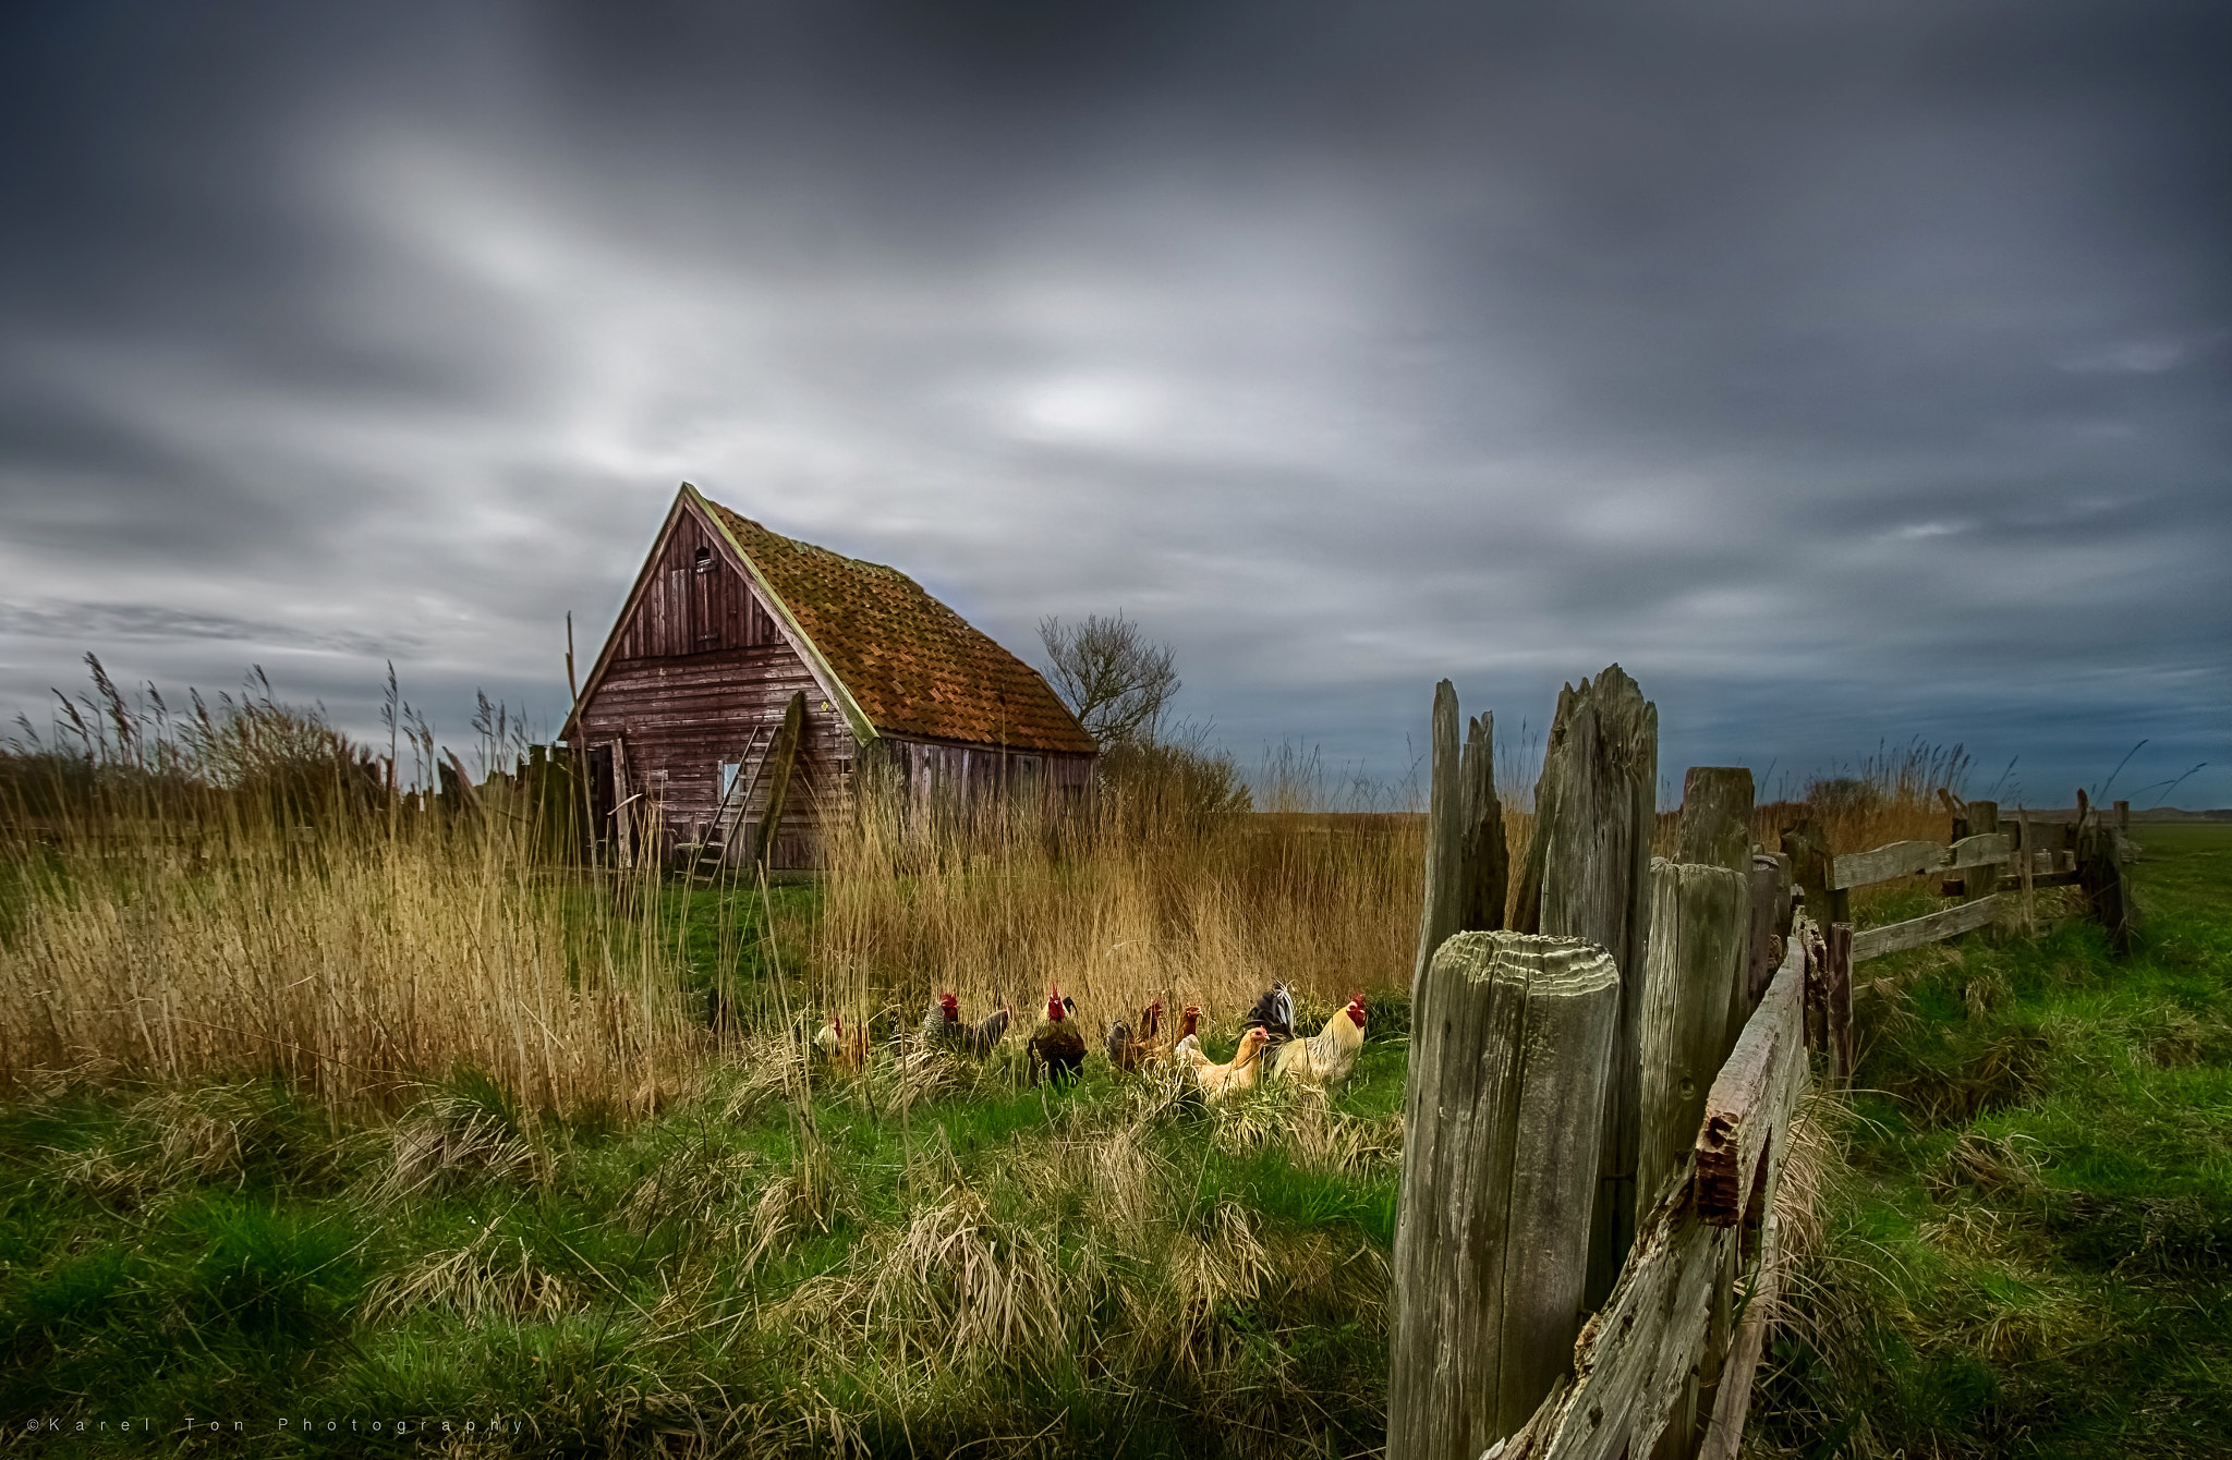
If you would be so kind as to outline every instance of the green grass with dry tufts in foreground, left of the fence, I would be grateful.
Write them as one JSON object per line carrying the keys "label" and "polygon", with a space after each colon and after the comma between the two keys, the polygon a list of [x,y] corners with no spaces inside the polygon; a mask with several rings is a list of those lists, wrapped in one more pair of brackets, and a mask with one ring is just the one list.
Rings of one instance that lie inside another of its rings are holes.
{"label": "green grass with dry tufts in foreground, left of the fence", "polygon": [[1333,1101],[1216,1112],[1100,1060],[1033,1089],[1013,1038],[904,1114],[888,1069],[797,1101],[768,1045],[625,1127],[471,1074],[393,1123],[268,1083],[27,1092],[0,1420],[60,1420],[40,1453],[431,1453],[395,1420],[493,1453],[1359,1453],[1402,1014]]}

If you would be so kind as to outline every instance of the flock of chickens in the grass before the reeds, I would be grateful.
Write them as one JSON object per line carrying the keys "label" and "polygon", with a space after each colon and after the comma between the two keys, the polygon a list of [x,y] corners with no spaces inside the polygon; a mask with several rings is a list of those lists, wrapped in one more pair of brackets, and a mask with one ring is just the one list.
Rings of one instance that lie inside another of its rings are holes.
{"label": "flock of chickens in the grass before the reeds", "polygon": [[[962,1022],[960,998],[940,993],[931,1000],[913,1040],[902,1040],[897,1027],[888,1029],[888,1036],[895,1045],[906,1043],[913,1049],[982,1058],[1007,1038],[1011,1022],[1013,1009],[1007,1002],[975,1025]],[[1337,1009],[1315,1036],[1295,1038],[1295,996],[1283,982],[1272,984],[1241,1020],[1241,1045],[1223,1065],[1201,1049],[1199,1027],[1201,1005],[1185,1005],[1178,1014],[1176,1040],[1165,1043],[1163,1000],[1158,998],[1141,1011],[1138,1025],[1116,1020],[1109,1027],[1109,1065],[1120,1074],[1176,1067],[1212,1105],[1257,1089],[1266,1080],[1333,1087],[1348,1078],[1357,1065],[1357,1049],[1364,1047],[1364,993],[1353,993],[1348,1005]],[[821,1027],[815,1047],[833,1065],[846,1069],[859,1069],[868,1063],[868,1031],[846,1031],[841,1014]],[[1078,1005],[1060,987],[1049,989],[1047,1018],[1024,1040],[1024,1047],[1031,1056],[1033,1085],[1042,1074],[1054,1085],[1071,1085],[1083,1074],[1087,1049],[1085,1036],[1078,1031]]]}

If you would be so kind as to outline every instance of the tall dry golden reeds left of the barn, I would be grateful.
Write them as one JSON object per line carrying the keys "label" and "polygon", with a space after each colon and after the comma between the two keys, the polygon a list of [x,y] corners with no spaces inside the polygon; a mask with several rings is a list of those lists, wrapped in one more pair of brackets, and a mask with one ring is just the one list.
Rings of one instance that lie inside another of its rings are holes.
{"label": "tall dry golden reeds left of the barn", "polygon": [[346,1105],[473,1067],[580,1110],[685,1047],[658,882],[614,918],[536,857],[525,797],[395,797],[272,703],[230,708],[263,721],[230,741],[292,719],[283,775],[228,775],[112,708],[118,732],[0,777],[0,1083],[254,1072]]}

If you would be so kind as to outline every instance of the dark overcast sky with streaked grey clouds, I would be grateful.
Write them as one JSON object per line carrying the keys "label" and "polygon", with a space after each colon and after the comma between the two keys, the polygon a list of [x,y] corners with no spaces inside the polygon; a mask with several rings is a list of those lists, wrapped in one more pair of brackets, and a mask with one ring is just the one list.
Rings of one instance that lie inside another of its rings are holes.
{"label": "dark overcast sky with streaked grey clouds", "polygon": [[[565,710],[676,484],[1399,779],[2232,806],[2232,11],[13,4],[0,708]],[[1531,772],[1529,772],[1531,779]]]}

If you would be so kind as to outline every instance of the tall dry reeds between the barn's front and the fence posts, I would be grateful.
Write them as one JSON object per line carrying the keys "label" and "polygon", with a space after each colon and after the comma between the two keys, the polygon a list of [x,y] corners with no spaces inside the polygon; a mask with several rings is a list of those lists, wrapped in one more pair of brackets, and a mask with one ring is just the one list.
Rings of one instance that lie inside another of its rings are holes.
{"label": "tall dry reeds between the barn's front and the fence posts", "polygon": [[1201,813],[1161,786],[1107,786],[1085,810],[969,824],[888,795],[830,835],[815,993],[920,1018],[953,989],[969,1018],[1049,984],[1089,1027],[1161,998],[1234,1018],[1274,980],[1317,1002],[1402,987],[1417,938],[1424,826],[1413,815]]}

